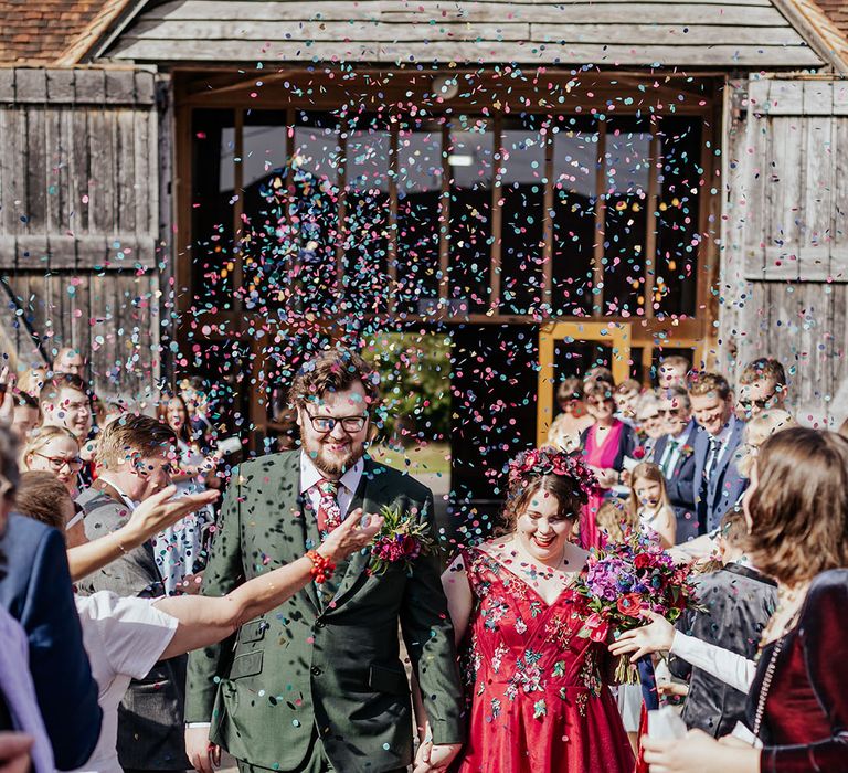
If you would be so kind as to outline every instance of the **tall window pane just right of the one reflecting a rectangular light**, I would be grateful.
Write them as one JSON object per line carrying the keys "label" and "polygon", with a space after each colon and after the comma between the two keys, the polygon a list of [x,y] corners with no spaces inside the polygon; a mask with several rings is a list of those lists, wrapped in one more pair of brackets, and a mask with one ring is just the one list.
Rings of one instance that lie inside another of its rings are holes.
{"label": "tall window pane just right of the one reflecting a rectangular light", "polygon": [[543,299],[544,145],[542,116],[504,121],[497,159],[504,314],[537,314]]}

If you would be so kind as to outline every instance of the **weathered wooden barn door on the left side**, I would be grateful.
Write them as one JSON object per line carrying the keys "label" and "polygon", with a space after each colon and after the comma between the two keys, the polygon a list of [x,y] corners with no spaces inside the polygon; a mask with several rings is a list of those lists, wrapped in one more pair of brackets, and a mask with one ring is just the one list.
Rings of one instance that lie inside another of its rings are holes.
{"label": "weathered wooden barn door on the left side", "polygon": [[[156,74],[0,70],[0,275],[43,348],[78,349],[104,394],[159,378]],[[22,364],[32,358],[19,325]]]}

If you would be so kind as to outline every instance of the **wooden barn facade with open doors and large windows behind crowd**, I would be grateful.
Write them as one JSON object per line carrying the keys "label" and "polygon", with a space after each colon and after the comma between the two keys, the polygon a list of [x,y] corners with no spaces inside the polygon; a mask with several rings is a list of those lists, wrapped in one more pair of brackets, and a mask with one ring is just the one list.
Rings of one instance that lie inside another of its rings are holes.
{"label": "wooden barn facade with open doors and large windows behind crowd", "polygon": [[75,346],[104,392],[222,378],[257,448],[268,352],[363,325],[451,338],[464,447],[678,351],[778,357],[803,421],[848,412],[841,3],[30,6],[0,2],[20,352]]}

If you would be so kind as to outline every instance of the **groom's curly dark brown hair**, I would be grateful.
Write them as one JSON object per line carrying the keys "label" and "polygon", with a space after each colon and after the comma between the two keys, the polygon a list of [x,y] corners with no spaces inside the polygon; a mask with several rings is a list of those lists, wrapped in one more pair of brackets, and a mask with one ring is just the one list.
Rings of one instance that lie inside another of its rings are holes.
{"label": "groom's curly dark brown hair", "polygon": [[368,406],[373,407],[380,398],[380,374],[373,366],[350,349],[327,349],[300,366],[288,400],[295,407],[300,407],[309,399],[319,398],[325,392],[341,392],[357,381],[362,382]]}

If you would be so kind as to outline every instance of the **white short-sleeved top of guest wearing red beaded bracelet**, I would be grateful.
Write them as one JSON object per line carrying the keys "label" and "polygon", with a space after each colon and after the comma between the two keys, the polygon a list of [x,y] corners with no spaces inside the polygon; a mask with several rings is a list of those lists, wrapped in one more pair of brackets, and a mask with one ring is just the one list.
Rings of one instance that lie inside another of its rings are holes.
{"label": "white short-sleeved top of guest wearing red beaded bracelet", "polygon": [[178,621],[157,610],[155,599],[100,591],[75,596],[75,601],[83,645],[97,682],[97,702],[103,709],[97,746],[76,773],[123,773],[117,750],[118,705],[130,679],[142,679],[160,659],[177,632]]}

